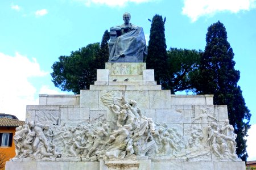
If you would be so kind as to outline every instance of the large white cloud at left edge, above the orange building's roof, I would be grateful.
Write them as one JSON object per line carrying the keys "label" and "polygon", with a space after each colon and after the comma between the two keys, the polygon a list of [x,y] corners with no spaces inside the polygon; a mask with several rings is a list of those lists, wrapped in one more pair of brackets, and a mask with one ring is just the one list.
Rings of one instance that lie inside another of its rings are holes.
{"label": "large white cloud at left edge, above the orange building's roof", "polygon": [[31,61],[19,53],[15,56],[0,53],[0,113],[14,114],[24,120],[26,105],[38,104],[36,88],[28,78],[47,74],[35,58]]}

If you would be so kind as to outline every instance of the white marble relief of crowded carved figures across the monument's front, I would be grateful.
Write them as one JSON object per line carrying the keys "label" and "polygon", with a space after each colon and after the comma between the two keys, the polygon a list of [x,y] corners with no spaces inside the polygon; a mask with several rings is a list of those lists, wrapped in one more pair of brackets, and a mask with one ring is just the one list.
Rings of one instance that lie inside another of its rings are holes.
{"label": "white marble relief of crowded carved figures across the monument's front", "polygon": [[[228,120],[224,125],[217,124],[217,119],[206,109],[192,118],[192,122],[199,123],[191,124],[187,135],[182,135],[177,128],[154,124],[151,118],[143,116],[135,100],[127,101],[122,96],[112,101],[115,102],[105,102],[113,114],[112,122],[97,120],[77,127],[28,122],[19,126],[14,135],[16,158],[97,161],[137,155],[193,159],[207,156],[211,150],[219,160],[238,159],[233,126]],[[214,121],[208,125],[209,118]]]}

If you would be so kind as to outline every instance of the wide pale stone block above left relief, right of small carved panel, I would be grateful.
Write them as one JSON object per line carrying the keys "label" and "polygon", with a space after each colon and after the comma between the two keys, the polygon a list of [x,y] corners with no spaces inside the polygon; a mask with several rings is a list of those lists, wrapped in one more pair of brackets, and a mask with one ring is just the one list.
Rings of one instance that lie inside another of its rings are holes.
{"label": "wide pale stone block above left relief, right of small carved panel", "polygon": [[89,108],[61,108],[61,120],[89,120]]}

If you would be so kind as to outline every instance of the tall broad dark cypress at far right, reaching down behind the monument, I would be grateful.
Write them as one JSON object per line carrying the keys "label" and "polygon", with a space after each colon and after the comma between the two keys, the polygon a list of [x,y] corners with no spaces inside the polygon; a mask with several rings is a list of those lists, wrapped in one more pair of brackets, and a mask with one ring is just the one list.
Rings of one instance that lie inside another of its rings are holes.
{"label": "tall broad dark cypress at far right, reaching down behind the monument", "polygon": [[250,111],[245,105],[242,91],[237,85],[240,71],[234,69],[234,53],[228,42],[224,25],[218,21],[208,27],[207,45],[201,57],[199,78],[193,86],[197,94],[213,94],[214,104],[227,105],[230,124],[237,134],[237,155],[246,160],[247,130],[250,128]]}

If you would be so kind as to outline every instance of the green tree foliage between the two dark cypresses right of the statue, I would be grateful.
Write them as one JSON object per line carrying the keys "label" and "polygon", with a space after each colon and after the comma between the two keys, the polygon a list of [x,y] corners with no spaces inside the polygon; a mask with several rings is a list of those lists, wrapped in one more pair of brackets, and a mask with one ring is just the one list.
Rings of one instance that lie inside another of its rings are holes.
{"label": "green tree foliage between the two dark cypresses right of the statue", "polygon": [[195,78],[199,68],[201,50],[171,48],[167,51],[168,87],[172,94],[177,91],[192,90],[191,78]]}

